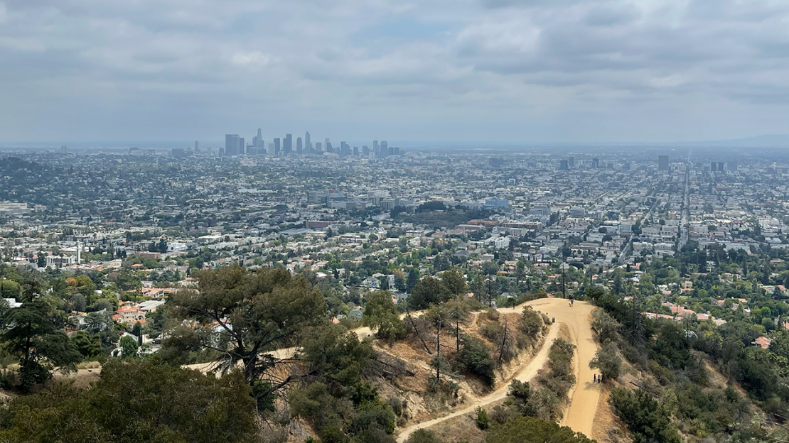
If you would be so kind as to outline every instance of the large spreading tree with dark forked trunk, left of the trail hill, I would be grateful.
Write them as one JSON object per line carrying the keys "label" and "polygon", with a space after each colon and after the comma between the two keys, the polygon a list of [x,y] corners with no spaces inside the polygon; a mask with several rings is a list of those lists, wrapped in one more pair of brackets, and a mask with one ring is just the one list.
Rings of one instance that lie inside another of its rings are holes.
{"label": "large spreading tree with dark forked trunk, left of the trail hill", "polygon": [[[320,290],[305,277],[282,269],[250,271],[237,265],[194,274],[196,291],[173,296],[178,318],[193,319],[203,327],[191,340],[163,341],[182,349],[211,349],[220,353],[227,371],[241,364],[250,385],[270,383],[258,400],[293,380],[280,378],[272,351],[294,346],[298,332],[326,321],[327,306]],[[183,338],[183,337],[181,337]]]}

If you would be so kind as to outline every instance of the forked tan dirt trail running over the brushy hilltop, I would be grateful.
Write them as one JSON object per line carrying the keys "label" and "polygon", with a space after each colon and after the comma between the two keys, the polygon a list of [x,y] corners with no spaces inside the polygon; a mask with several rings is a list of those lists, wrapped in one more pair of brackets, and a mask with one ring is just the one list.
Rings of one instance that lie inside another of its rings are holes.
{"label": "forked tan dirt trail running over the brushy hilltop", "polygon": [[[548,360],[548,350],[559,334],[559,325],[567,325],[567,328],[570,330],[570,337],[572,337],[574,344],[578,346],[574,359],[577,382],[572,391],[570,391],[570,407],[567,408],[564,414],[565,418],[562,424],[570,426],[572,430],[582,432],[585,435],[592,434],[592,423],[597,409],[597,402],[600,399],[600,385],[592,382],[593,370],[589,369],[589,359],[592,359],[597,349],[592,328],[589,326],[589,315],[592,313],[592,305],[584,302],[575,302],[574,307],[570,307],[570,304],[564,299],[540,299],[525,304],[533,307],[536,311],[547,313],[549,317],[556,318],[556,323],[551,326],[548,337],[546,337],[543,347],[540,348],[537,356],[518,372],[514,378],[521,382],[528,382],[537,375],[537,371]],[[514,308],[503,308],[499,309],[499,311],[520,312],[522,309],[523,305]],[[452,412],[450,415],[406,427],[398,434],[398,443],[406,441],[415,430],[425,429],[458,415],[468,414],[480,406],[503,399],[507,396],[509,386],[510,383],[499,386],[499,389],[496,389],[494,392],[481,397],[465,408]]]}

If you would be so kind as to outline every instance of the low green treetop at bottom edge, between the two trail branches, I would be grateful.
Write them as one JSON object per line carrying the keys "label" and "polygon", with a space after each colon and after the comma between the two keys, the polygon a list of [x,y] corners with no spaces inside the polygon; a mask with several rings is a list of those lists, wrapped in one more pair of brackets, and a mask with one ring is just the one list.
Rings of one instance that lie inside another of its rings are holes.
{"label": "low green treetop at bottom edge, between the two trail branches", "polygon": [[531,417],[508,420],[492,426],[486,438],[488,443],[594,443],[580,432],[567,426],[545,422]]}

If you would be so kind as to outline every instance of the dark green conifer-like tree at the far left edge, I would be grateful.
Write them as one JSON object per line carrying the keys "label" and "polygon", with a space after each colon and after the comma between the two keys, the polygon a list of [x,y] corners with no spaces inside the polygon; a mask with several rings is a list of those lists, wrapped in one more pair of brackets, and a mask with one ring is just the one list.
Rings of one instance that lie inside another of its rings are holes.
{"label": "dark green conifer-like tree at the far left edge", "polygon": [[6,314],[2,333],[6,349],[20,357],[19,378],[24,389],[52,378],[55,367],[64,373],[77,370],[82,360],[77,345],[54,326],[47,302],[32,297]]}

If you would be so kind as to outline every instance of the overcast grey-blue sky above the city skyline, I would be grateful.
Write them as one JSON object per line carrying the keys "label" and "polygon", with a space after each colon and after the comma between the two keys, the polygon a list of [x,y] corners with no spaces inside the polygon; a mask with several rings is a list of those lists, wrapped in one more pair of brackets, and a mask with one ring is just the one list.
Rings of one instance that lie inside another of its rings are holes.
{"label": "overcast grey-blue sky above the city skyline", "polygon": [[0,0],[0,140],[789,132],[787,0]]}

